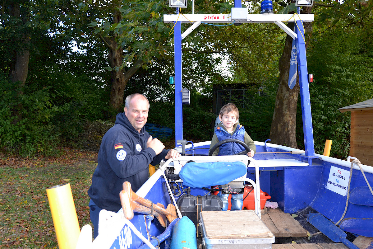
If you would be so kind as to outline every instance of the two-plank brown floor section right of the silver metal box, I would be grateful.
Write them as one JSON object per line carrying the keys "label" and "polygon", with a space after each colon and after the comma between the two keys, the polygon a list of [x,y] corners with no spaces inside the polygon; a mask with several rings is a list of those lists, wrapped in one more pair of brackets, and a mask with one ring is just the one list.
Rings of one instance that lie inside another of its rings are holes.
{"label": "two-plank brown floor section right of the silver metal box", "polygon": [[[261,214],[261,220],[276,237],[306,237],[305,230],[289,213],[281,209],[268,208],[267,214]],[[301,249],[301,248],[297,248]]]}

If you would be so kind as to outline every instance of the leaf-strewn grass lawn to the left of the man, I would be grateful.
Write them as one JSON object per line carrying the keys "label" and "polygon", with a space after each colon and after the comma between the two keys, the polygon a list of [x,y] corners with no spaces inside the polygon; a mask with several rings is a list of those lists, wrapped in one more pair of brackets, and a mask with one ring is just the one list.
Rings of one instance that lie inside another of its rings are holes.
{"label": "leaf-strewn grass lawn to the left of the man", "polygon": [[[87,194],[97,152],[0,158],[0,248],[58,248],[46,188],[70,183],[79,227],[91,224]],[[91,224],[92,225],[92,224]]]}

